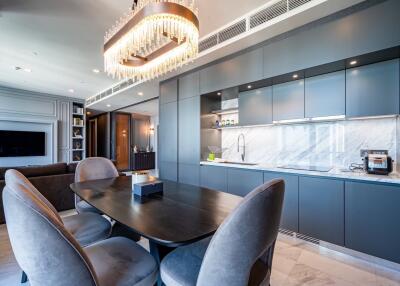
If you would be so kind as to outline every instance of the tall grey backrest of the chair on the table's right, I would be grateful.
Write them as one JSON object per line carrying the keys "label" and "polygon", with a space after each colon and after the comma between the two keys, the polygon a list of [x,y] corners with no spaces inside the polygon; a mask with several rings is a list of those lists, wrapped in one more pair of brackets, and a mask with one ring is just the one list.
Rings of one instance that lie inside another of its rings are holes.
{"label": "tall grey backrest of the chair on the table's right", "polygon": [[244,198],[213,236],[198,286],[248,285],[253,265],[278,236],[284,192],[284,181],[273,180]]}

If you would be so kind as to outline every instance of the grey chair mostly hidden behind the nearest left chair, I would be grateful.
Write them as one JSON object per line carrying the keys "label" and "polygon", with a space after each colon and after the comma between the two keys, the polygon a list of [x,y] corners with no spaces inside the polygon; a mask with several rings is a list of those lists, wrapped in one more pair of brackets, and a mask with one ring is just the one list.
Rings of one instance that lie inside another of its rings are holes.
{"label": "grey chair mostly hidden behind the nearest left chair", "polygon": [[[82,213],[61,218],[54,206],[20,172],[16,170],[7,171],[5,180],[6,185],[20,184],[24,186],[33,197],[46,205],[81,246],[90,245],[110,236],[111,223],[99,214]],[[21,283],[25,283],[26,281],[27,276],[25,273],[22,273]]]}

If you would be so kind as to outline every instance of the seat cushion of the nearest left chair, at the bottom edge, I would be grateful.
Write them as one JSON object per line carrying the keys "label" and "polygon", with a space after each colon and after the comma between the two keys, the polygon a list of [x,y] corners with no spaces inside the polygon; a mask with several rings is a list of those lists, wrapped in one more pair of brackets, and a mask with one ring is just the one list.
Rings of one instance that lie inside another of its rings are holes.
{"label": "seat cushion of the nearest left chair, at the bottom edge", "polygon": [[147,286],[157,280],[155,259],[141,246],[124,237],[92,244],[84,251],[96,272],[100,286]]}

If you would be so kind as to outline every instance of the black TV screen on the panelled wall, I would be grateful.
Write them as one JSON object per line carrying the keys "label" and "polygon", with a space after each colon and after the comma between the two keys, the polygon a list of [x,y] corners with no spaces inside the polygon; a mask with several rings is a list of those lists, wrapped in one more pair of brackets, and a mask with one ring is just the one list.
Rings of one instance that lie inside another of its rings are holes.
{"label": "black TV screen on the panelled wall", "polygon": [[46,133],[0,130],[0,157],[45,156]]}

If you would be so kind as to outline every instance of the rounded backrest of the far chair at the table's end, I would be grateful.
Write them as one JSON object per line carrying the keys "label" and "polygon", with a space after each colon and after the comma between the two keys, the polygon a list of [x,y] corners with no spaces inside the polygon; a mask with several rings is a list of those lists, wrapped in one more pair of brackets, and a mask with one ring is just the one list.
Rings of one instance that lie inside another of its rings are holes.
{"label": "rounded backrest of the far chair at the table's end", "polygon": [[118,176],[118,170],[111,160],[102,157],[91,157],[79,162],[75,171],[75,183]]}

